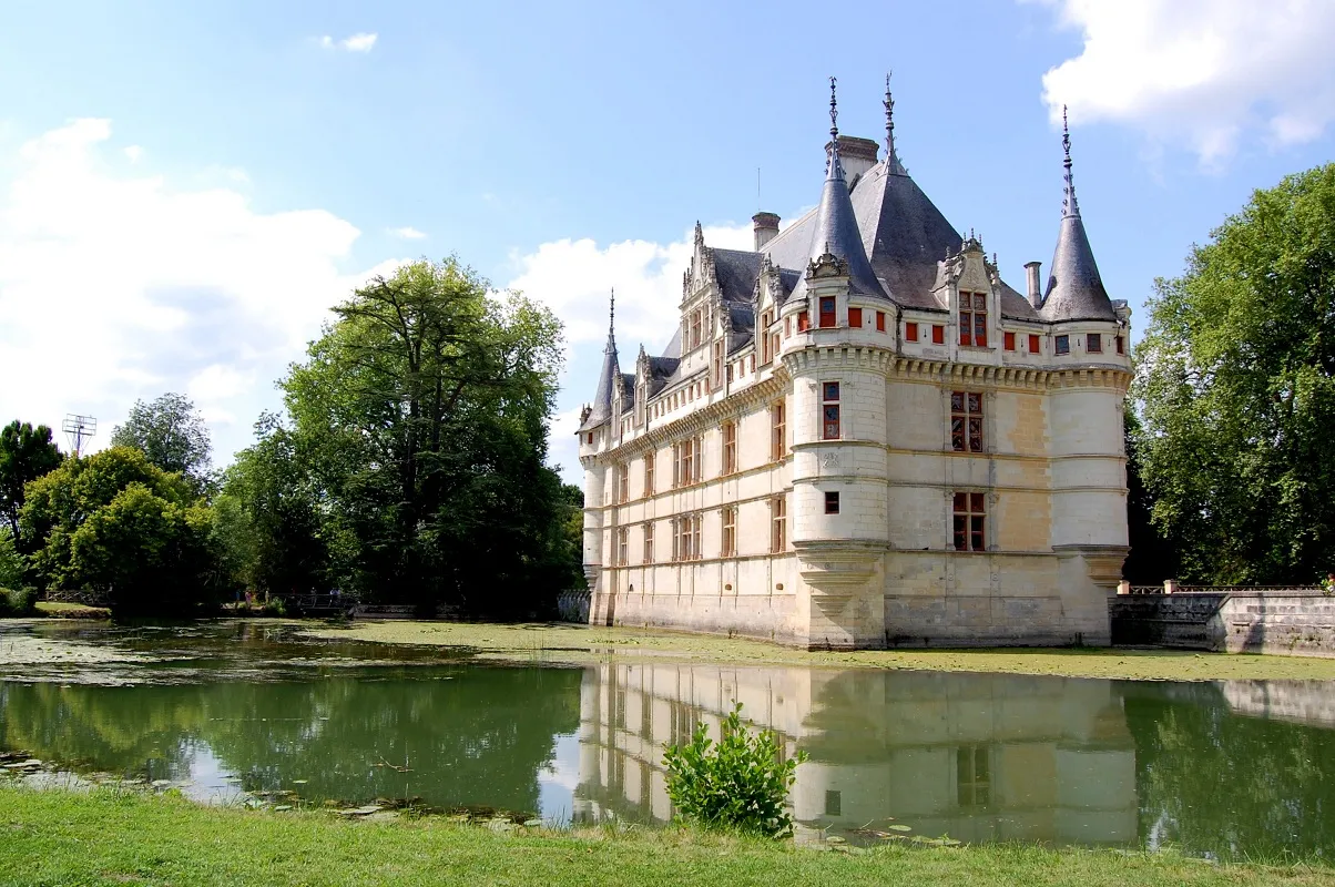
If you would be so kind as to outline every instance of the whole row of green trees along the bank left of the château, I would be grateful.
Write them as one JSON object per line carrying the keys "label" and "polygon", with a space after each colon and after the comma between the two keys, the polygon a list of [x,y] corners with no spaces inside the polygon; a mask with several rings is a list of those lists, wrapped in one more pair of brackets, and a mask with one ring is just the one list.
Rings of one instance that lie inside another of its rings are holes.
{"label": "whole row of green trees along the bank left of the ch\u00e2teau", "polygon": [[559,322],[455,259],[378,277],[334,315],[222,472],[179,394],[138,402],[88,457],[8,426],[0,586],[96,589],[117,613],[243,589],[551,613],[583,582],[582,494],[546,465]]}

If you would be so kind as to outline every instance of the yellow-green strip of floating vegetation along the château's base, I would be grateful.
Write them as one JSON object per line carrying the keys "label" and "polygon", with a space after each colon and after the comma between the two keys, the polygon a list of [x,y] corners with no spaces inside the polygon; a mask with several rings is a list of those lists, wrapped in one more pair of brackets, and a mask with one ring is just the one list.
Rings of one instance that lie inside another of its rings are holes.
{"label": "yellow-green strip of floating vegetation along the ch\u00e2teau's base", "polygon": [[474,651],[483,659],[589,663],[618,656],[692,659],[757,665],[833,665],[943,672],[1063,675],[1131,680],[1335,680],[1335,659],[1193,653],[1121,648],[1011,648],[933,651],[800,651],[738,637],[570,624],[306,623],[307,635],[380,644],[425,644]]}

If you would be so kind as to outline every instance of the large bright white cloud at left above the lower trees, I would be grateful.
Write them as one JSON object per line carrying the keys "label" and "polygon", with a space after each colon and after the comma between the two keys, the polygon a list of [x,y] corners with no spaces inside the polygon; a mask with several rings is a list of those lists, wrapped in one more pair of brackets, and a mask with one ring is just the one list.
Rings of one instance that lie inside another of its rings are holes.
{"label": "large bright white cloud at left above the lower trees", "polygon": [[260,214],[226,187],[117,178],[109,139],[109,122],[75,120],[0,163],[16,168],[0,190],[0,415],[97,415],[96,446],[136,398],[183,391],[224,425],[226,462],[327,309],[395,263],[346,274],[359,232],[323,210]]}

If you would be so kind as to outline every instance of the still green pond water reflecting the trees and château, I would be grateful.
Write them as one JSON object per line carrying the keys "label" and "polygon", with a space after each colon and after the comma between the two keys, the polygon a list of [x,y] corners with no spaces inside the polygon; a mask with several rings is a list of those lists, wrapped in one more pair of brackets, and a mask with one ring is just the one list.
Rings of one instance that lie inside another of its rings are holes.
{"label": "still green pond water reflecting the trees and ch\u00e2teau", "polygon": [[[5,665],[41,633],[139,663]],[[666,822],[665,743],[732,700],[804,749],[801,836],[1335,856],[1335,685],[893,672],[609,655],[489,665],[290,627],[0,624],[0,749],[202,799],[417,797]],[[714,733],[717,736],[717,732]]]}

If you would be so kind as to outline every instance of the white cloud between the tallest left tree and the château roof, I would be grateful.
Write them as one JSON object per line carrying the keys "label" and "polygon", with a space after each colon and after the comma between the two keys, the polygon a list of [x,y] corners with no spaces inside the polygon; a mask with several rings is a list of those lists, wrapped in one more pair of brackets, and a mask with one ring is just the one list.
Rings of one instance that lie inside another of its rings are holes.
{"label": "white cloud between the tallest left tree and the ch\u00e2teau roof", "polygon": [[[752,226],[710,226],[705,243],[733,250],[752,248]],[[673,243],[562,239],[513,254],[518,274],[506,289],[522,290],[542,302],[566,327],[570,363],[561,381],[557,414],[549,422],[547,461],[561,465],[569,484],[583,484],[575,444],[579,409],[593,397],[607,341],[607,297],[617,289],[617,347],[621,370],[631,371],[641,342],[661,354],[677,329],[681,275],[690,263],[693,231]]]}

